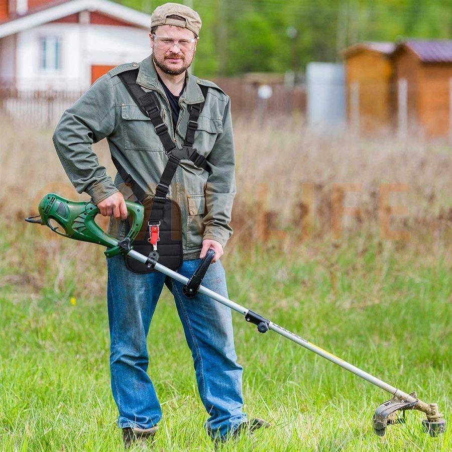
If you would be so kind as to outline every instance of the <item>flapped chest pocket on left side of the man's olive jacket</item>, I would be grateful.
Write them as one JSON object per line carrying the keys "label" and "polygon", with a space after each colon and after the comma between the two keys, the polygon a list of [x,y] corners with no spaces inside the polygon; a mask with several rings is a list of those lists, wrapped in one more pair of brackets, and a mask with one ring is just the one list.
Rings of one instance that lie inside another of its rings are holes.
{"label": "flapped chest pocket on left side of the man's olive jacket", "polygon": [[121,118],[126,151],[164,151],[151,119],[138,106],[122,105]]}

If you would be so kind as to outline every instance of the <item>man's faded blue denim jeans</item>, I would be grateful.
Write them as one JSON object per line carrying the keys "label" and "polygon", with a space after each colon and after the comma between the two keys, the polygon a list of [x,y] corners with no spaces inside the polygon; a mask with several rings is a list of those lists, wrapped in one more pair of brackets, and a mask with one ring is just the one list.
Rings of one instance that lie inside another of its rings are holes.
{"label": "man's faded blue denim jeans", "polygon": [[[189,278],[199,263],[199,259],[184,261],[178,272]],[[121,255],[107,259],[107,268],[111,389],[119,409],[118,425],[150,428],[162,417],[147,374],[146,337],[163,284],[174,296],[191,350],[199,395],[209,414],[207,431],[224,437],[245,422],[242,367],[237,364],[231,309],[200,293],[185,297],[183,285],[163,273],[133,273]],[[210,265],[202,284],[228,297],[219,261]]]}

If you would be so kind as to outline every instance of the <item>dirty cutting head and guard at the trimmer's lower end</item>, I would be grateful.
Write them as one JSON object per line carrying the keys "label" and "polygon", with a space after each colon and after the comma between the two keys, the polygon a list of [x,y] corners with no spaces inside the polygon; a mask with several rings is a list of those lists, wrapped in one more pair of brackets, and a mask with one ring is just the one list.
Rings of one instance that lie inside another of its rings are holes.
{"label": "dirty cutting head and guard at the trimmer's lower end", "polygon": [[[402,400],[397,394],[385,403],[382,403],[376,410],[372,419],[375,433],[378,436],[383,436],[388,425],[404,424],[406,410],[419,410],[427,415],[427,419],[422,421],[425,431],[431,435],[436,436],[445,431],[445,420],[442,414],[438,411],[436,403],[427,404],[417,398],[415,392],[410,394],[414,400]],[[402,411],[401,416],[397,416],[397,411]]]}

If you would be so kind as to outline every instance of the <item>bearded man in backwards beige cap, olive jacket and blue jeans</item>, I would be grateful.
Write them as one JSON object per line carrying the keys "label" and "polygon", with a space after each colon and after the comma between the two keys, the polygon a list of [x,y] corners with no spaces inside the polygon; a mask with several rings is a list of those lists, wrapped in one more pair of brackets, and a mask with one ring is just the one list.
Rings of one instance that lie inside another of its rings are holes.
{"label": "bearded man in backwards beige cap, olive jacket and blue jeans", "polygon": [[[200,28],[199,15],[192,9],[173,3],[158,7],[152,14],[149,33],[152,55],[141,63],[120,65],[97,80],[64,112],[53,142],[77,191],[87,192],[101,214],[110,216],[110,233],[124,237],[125,198],[136,200],[137,190],[156,194],[168,163],[168,144],[162,145],[156,131],[167,129],[173,147],[180,148],[184,137],[187,140],[192,106],[203,102],[193,149],[207,166],[198,167],[188,158],[176,159],[178,166],[166,189],[181,212],[183,263],[179,273],[190,277],[212,248],[215,257],[203,285],[227,297],[219,258],[232,235],[229,223],[236,192],[231,103],[214,83],[187,72]],[[154,129],[123,82],[122,74],[136,69],[139,91],[156,93],[158,119],[166,127]],[[91,150],[91,144],[102,138],[107,139],[119,168],[115,182]],[[125,183],[129,175],[135,190],[130,181]],[[174,296],[192,353],[199,394],[209,414],[208,433],[224,439],[263,426],[260,419],[248,422],[242,411],[242,367],[234,348],[231,310],[201,294],[187,298],[181,284],[161,273],[135,273],[126,267],[123,256],[108,259],[107,269],[111,388],[126,443],[154,436],[161,418],[147,374],[146,337],[164,284]]]}

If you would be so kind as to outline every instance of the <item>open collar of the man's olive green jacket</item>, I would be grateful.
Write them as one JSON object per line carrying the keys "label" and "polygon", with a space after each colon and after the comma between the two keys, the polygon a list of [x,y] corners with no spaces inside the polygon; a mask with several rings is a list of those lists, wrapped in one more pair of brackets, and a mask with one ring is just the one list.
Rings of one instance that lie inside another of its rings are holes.
{"label": "open collar of the man's olive green jacket", "polygon": [[[185,73],[185,88],[181,94],[181,100],[184,100],[188,104],[199,103],[204,100],[201,88],[196,80],[198,80],[198,78],[190,75],[188,71]],[[137,83],[145,88],[159,89],[164,92],[163,86],[160,84],[157,77],[157,71],[155,70],[151,55],[140,63]]]}

